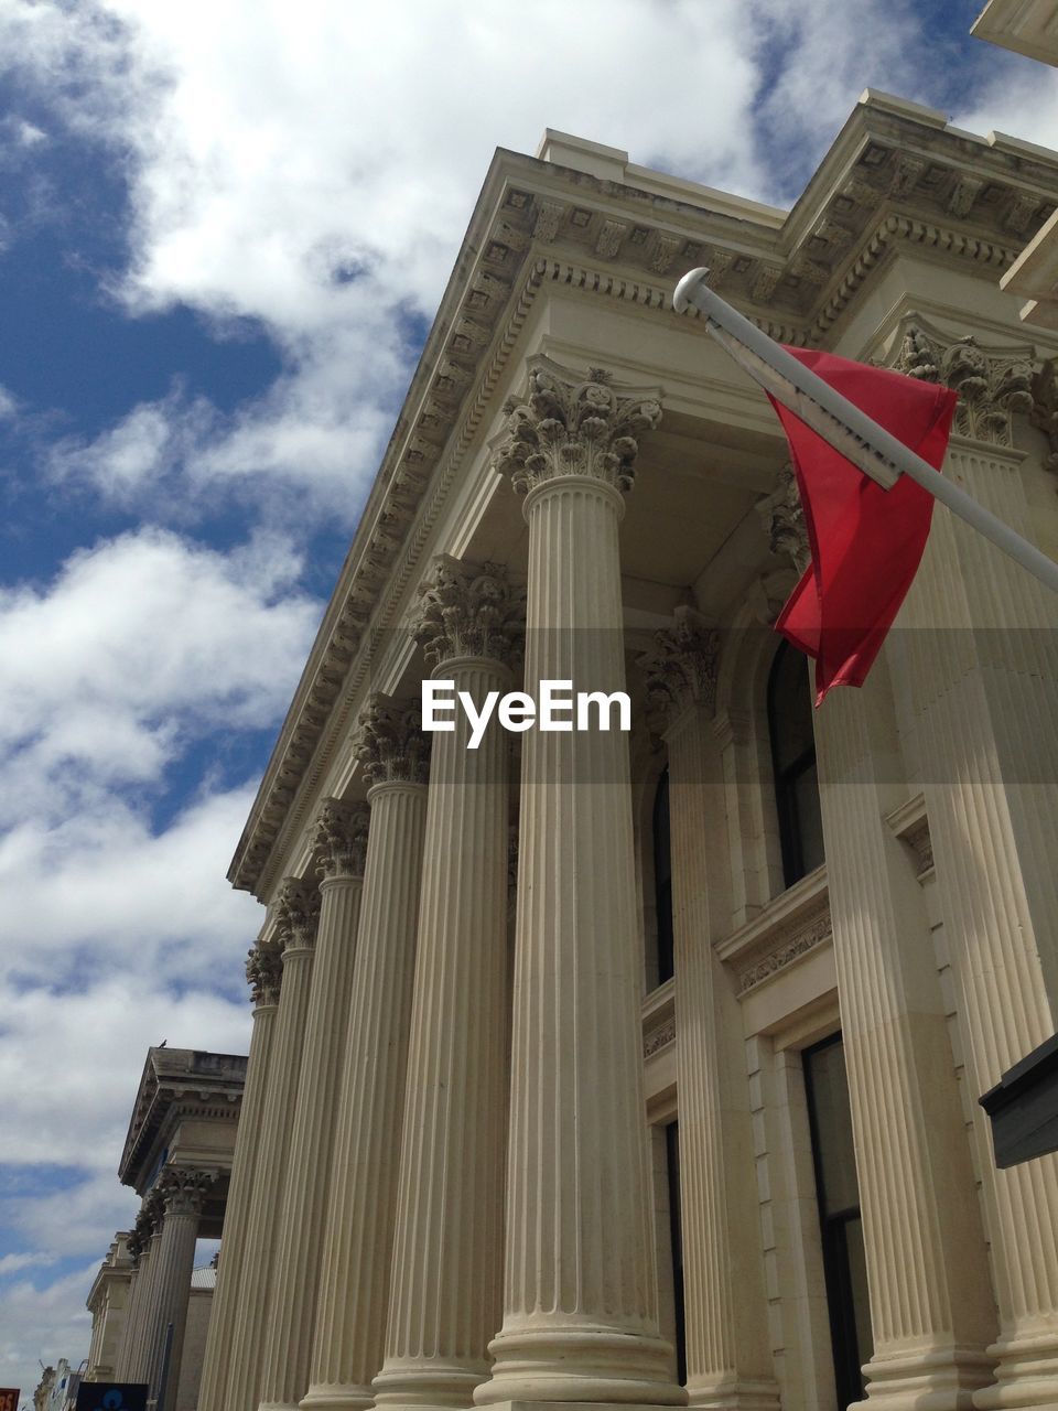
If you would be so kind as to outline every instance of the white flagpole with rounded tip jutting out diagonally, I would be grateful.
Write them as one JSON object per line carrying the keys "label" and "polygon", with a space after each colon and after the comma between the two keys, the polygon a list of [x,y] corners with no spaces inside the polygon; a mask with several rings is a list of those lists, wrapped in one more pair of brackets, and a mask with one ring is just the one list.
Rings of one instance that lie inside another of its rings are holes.
{"label": "white flagpole with rounded tip jutting out diagonally", "polygon": [[705,284],[708,270],[691,270],[673,293],[673,308],[683,313],[694,305],[705,315],[705,327],[735,361],[824,440],[851,460],[883,490],[892,490],[899,476],[910,476],[934,499],[989,539],[997,549],[1058,593],[1058,563],[1041,553],[1010,525],[968,495],[945,476],[916,456],[903,442],[837,392],[821,377],[798,363],[774,339],[725,303]]}

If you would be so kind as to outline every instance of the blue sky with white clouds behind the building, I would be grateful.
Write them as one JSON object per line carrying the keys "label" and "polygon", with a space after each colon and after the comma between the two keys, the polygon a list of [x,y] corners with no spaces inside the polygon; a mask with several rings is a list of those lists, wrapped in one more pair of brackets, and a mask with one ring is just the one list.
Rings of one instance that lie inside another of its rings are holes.
{"label": "blue sky with white clouds behind the building", "polygon": [[1058,147],[976,0],[0,0],[0,1386],[86,1355],[150,1044],[245,1051],[226,880],[492,150],[790,205],[866,87]]}

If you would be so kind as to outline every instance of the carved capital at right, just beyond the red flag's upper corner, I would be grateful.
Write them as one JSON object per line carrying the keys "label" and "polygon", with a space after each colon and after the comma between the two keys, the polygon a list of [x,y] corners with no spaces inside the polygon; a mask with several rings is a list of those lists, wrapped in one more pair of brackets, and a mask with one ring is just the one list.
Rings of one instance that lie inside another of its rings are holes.
{"label": "carved capital at right, just beyond the red flag's upper corner", "polygon": [[973,337],[952,339],[911,315],[894,367],[924,382],[958,392],[954,432],[993,446],[1013,446],[1013,416],[1033,411],[1031,347],[985,347]]}

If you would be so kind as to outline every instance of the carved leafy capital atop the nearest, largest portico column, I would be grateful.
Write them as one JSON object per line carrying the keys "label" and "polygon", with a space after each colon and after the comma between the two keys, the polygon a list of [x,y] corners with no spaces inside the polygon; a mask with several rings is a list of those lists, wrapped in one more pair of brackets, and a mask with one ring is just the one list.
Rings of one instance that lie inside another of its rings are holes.
{"label": "carved leafy capital atop the nearest, largest portico column", "polygon": [[662,419],[657,388],[616,387],[602,368],[587,375],[546,357],[530,358],[529,395],[509,401],[494,466],[518,494],[561,476],[590,476],[632,488],[639,436]]}

